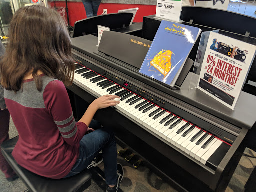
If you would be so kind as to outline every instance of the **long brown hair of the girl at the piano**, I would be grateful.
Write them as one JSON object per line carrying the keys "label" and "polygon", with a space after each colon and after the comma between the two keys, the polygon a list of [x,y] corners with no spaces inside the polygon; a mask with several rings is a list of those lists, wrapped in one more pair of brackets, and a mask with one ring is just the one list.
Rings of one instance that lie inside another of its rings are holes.
{"label": "long brown hair of the girl at the piano", "polygon": [[71,40],[63,18],[53,9],[33,5],[20,8],[9,27],[6,52],[0,62],[0,84],[20,90],[22,80],[32,71],[36,88],[42,90],[45,75],[70,85],[74,74]]}

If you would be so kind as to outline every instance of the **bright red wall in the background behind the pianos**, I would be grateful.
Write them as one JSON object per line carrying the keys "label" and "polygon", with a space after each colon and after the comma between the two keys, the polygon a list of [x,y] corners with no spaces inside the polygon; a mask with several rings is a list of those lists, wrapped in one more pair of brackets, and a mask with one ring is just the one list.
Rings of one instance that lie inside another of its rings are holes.
{"label": "bright red wall in the background behind the pianos", "polygon": [[[65,7],[66,4],[63,1],[54,1],[50,3],[51,8],[53,7]],[[82,2],[68,2],[69,22],[71,26],[74,26],[75,21],[86,18],[86,12]],[[138,7],[137,14],[133,22],[142,22],[143,16],[153,15],[156,11],[156,5],[141,5],[141,4],[112,4],[112,3],[101,3],[98,8],[98,15],[103,13],[103,9],[107,9],[107,14],[116,13],[118,10],[127,8]]]}

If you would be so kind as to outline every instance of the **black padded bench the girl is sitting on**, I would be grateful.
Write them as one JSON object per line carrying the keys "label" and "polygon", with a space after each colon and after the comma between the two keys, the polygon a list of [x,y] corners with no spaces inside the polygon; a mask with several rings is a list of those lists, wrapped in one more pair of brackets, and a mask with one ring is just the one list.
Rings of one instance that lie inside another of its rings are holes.
{"label": "black padded bench the girl is sitting on", "polygon": [[33,192],[53,192],[53,191],[61,191],[61,192],[80,192],[84,191],[91,184],[91,173],[87,169],[83,172],[71,176],[68,178],[62,179],[50,179],[43,176],[39,176],[34,174],[25,168],[19,166],[11,152],[14,149],[15,144],[18,141],[18,136],[5,141],[1,145],[1,151],[3,156],[6,158],[8,163],[11,165],[13,170],[16,172],[18,177],[24,182],[24,184],[28,187],[29,191]]}

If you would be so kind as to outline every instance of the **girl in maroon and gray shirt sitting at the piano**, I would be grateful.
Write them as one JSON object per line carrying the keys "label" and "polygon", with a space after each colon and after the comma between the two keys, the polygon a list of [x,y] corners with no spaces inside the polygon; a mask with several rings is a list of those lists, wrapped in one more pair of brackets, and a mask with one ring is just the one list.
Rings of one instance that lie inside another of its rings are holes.
{"label": "girl in maroon and gray shirt sitting at the piano", "polygon": [[[76,122],[65,88],[73,74],[63,18],[43,6],[20,8],[0,63],[5,102],[19,133],[12,155],[31,172],[60,179],[81,172],[102,150],[107,190],[117,191],[123,168],[117,164],[114,134],[101,126],[94,131],[92,118],[98,109],[118,104],[113,99],[119,97],[95,99]],[[85,135],[89,130],[93,132]]]}

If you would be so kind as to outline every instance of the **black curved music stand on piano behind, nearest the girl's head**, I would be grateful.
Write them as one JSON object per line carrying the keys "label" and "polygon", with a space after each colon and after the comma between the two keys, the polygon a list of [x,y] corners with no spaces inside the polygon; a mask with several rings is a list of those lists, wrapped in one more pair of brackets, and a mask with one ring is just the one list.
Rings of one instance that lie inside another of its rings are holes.
{"label": "black curved music stand on piano behind, nearest the girl's head", "polygon": [[133,13],[103,14],[85,18],[74,23],[73,38],[88,34],[97,35],[98,25],[109,27],[110,30],[129,26]]}

